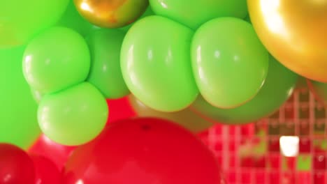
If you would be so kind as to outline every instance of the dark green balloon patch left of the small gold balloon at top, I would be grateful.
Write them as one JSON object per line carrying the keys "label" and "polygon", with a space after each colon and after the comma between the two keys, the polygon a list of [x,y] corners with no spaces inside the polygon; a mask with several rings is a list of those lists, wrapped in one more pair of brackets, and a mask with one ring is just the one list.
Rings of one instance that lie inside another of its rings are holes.
{"label": "dark green balloon patch left of the small gold balloon at top", "polygon": [[61,20],[57,23],[57,26],[66,26],[70,29],[73,29],[80,33],[82,36],[87,36],[94,30],[100,29],[98,26],[95,26],[85,20],[78,10],[76,10],[74,1],[69,1],[66,12],[61,17]]}

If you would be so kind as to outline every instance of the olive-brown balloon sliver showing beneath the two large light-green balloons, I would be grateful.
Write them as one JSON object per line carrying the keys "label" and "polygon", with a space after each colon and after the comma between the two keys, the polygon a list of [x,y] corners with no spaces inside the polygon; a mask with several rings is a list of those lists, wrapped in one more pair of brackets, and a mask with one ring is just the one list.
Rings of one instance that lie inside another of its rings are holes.
{"label": "olive-brown balloon sliver showing beneath the two large light-green balloons", "polygon": [[189,108],[180,112],[157,112],[150,107],[145,106],[140,100],[136,99],[133,95],[129,95],[129,102],[138,116],[141,117],[156,117],[165,118],[182,125],[184,128],[192,132],[201,132],[210,128],[213,124],[205,121],[200,116],[191,112]]}

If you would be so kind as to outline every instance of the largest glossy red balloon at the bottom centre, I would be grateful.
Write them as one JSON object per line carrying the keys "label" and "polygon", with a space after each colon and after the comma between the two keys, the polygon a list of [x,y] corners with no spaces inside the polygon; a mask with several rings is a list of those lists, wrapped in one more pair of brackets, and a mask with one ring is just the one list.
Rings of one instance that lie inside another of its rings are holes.
{"label": "largest glossy red balloon at the bottom centre", "polygon": [[212,152],[191,132],[156,118],[110,123],[66,163],[65,184],[220,184]]}

